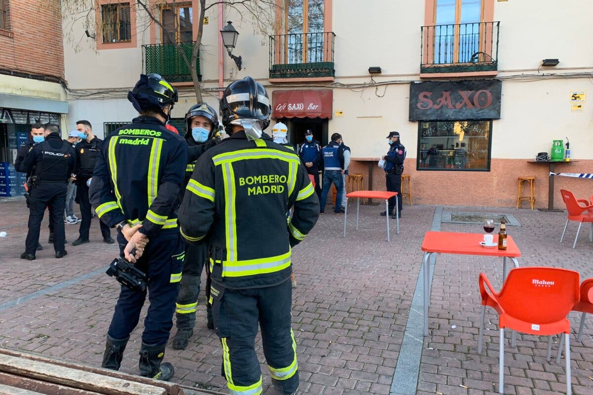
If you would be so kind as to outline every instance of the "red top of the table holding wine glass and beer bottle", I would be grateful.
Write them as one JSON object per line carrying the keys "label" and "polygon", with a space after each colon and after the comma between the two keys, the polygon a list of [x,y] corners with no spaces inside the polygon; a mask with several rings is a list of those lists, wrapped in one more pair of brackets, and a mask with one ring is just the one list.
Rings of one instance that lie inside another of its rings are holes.
{"label": "red top of the table holding wine glass and beer bottle", "polygon": [[[493,242],[498,243],[498,235],[493,235]],[[506,250],[496,247],[483,247],[484,233],[426,232],[422,242],[422,251],[455,253],[461,255],[521,256],[521,251],[511,236],[506,237]]]}

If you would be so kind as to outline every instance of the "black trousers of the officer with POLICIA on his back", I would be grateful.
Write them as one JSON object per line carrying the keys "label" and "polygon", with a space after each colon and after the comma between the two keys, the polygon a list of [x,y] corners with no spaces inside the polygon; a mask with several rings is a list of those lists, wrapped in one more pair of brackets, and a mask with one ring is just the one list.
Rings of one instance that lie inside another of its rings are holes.
{"label": "black trousers of the officer with POLICIA on his back", "polygon": [[53,248],[56,252],[64,251],[64,221],[62,216],[54,215],[62,213],[66,205],[66,183],[65,182],[43,182],[33,188],[31,203],[29,207],[29,230],[25,240],[25,252],[35,255],[39,243],[39,231],[45,208],[49,207],[50,232],[53,231]]}

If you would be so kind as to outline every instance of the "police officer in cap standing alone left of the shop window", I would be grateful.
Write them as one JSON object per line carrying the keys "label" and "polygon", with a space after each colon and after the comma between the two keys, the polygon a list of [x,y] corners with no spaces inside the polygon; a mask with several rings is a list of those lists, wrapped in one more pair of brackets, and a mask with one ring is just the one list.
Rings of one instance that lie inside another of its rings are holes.
{"label": "police officer in cap standing alone left of the shop window", "polygon": [[[395,219],[396,214],[393,209],[396,207],[399,217],[401,218],[401,174],[404,172],[404,159],[406,159],[406,147],[401,144],[400,133],[397,131],[390,131],[389,136],[389,150],[387,155],[383,155],[382,159],[385,160],[385,184],[387,184],[387,191],[397,192],[396,197],[392,197],[389,200],[389,215]],[[382,211],[382,216],[387,215],[387,211]]]}

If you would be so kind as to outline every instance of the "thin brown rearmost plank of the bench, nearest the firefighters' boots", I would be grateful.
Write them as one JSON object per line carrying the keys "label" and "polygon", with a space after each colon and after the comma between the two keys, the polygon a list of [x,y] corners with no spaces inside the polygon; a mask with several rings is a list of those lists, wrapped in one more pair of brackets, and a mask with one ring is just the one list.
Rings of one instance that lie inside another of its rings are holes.
{"label": "thin brown rearmost plank of the bench, nearest the firefighters' boots", "polygon": [[[0,348],[0,354],[12,355],[13,357],[31,359],[33,361],[47,362],[48,364],[59,365],[59,366],[63,366],[66,368],[78,369],[78,370],[87,371],[87,372],[91,372],[91,373],[106,375],[109,377],[121,378],[123,380],[135,381],[136,383],[149,384],[152,386],[165,388],[165,390],[167,390],[168,395],[184,395],[183,390],[177,384],[168,383],[167,381],[158,381],[158,380],[154,380],[152,378],[127,374],[127,373],[119,372],[116,370],[108,370],[108,369],[103,369],[103,368],[96,368],[96,367],[91,367],[91,366],[87,366],[87,365],[76,364],[74,362],[61,361],[60,359],[43,357],[43,355],[37,355],[37,354],[28,354],[25,352],[21,352],[21,351],[9,349],[9,348]],[[207,391],[207,392],[215,394],[214,392],[209,392],[209,391]]]}

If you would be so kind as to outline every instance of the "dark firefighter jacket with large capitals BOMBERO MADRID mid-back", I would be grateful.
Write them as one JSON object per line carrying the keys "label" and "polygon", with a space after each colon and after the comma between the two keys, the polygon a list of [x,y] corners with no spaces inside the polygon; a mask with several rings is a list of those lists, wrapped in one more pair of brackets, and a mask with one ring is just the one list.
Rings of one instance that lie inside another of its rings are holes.
{"label": "dark firefighter jacket with large capitals BOMBERO MADRID mid-back", "polygon": [[318,216],[317,195],[295,152],[267,134],[247,140],[244,131],[200,156],[179,208],[181,235],[190,243],[210,236],[212,281],[231,289],[285,281],[291,246]]}

